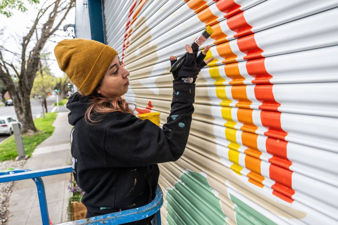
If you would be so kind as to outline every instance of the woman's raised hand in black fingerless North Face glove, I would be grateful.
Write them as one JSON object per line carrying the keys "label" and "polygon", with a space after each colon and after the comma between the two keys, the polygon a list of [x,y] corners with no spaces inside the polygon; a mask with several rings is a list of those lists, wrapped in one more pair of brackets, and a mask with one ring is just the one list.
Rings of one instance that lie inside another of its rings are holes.
{"label": "woman's raised hand in black fingerless North Face glove", "polygon": [[[201,68],[206,66],[210,63],[214,58],[210,58],[204,60],[207,55],[207,52],[210,49],[210,45],[208,45],[203,52],[201,52],[197,56],[196,51],[192,51],[192,48],[187,44],[186,51],[187,51],[187,58],[178,69],[172,72],[174,81],[180,81],[185,83],[195,83],[198,73],[201,71]],[[171,66],[177,61],[175,56],[170,56],[170,64]]]}

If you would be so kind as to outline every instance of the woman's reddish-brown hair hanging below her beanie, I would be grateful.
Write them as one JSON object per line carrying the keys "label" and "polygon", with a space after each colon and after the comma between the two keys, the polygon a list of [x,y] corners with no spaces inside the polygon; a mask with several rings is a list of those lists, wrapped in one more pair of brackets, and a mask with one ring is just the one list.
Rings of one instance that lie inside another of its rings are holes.
{"label": "woman's reddish-brown hair hanging below her beanie", "polygon": [[[105,97],[99,93],[97,93],[97,88],[100,86],[100,84],[95,88],[92,94],[89,95],[90,104],[89,107],[84,114],[84,119],[86,122],[88,120],[90,122],[96,123],[101,121],[103,116],[107,113],[111,112],[122,112],[122,113],[130,113],[134,114],[134,110],[129,108],[130,105],[134,105],[132,103],[127,103],[122,97]],[[80,95],[84,95],[80,91],[78,91]],[[92,116],[91,114],[95,114],[95,116]],[[95,120],[96,119],[96,120]]]}

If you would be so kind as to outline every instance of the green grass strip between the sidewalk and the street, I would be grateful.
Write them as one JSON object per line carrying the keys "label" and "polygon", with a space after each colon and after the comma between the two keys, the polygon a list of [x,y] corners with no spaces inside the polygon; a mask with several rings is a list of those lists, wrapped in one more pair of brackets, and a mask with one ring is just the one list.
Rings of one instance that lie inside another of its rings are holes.
{"label": "green grass strip between the sidewalk and the street", "polygon": [[[30,157],[35,147],[53,134],[55,128],[52,123],[56,115],[57,113],[46,113],[45,118],[39,117],[34,120],[35,127],[41,131],[40,133],[35,133],[33,136],[22,135],[26,155]],[[17,147],[14,135],[12,135],[0,144],[0,162],[15,159],[17,156]]]}

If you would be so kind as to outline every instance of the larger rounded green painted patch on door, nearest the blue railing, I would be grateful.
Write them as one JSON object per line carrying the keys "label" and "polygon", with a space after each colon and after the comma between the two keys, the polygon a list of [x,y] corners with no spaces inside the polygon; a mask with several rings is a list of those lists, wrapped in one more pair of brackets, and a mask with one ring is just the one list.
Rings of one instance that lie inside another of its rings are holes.
{"label": "larger rounded green painted patch on door, nearest the blue railing", "polygon": [[[177,182],[174,188],[167,191],[167,205],[171,216],[170,224],[174,223],[173,210],[188,224],[227,224],[226,216],[222,212],[219,199],[215,196],[213,189],[208,184],[206,177],[196,172],[186,172],[180,177],[182,181]],[[188,214],[185,218],[180,211],[184,209]]]}

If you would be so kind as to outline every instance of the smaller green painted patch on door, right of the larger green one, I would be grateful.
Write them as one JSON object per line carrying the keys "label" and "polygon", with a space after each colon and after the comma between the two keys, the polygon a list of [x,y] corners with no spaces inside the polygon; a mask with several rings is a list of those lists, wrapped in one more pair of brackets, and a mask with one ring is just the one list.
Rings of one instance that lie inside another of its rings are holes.
{"label": "smaller green painted patch on door, right of the larger green one", "polygon": [[[267,224],[267,225],[277,225],[275,222],[258,212],[256,209],[252,208],[251,206],[247,205],[243,201],[239,200],[232,194],[230,194],[230,199],[232,202],[234,202],[237,206],[234,208],[236,213],[236,220],[237,216],[240,214],[243,217],[245,217],[247,220],[249,220],[253,224]],[[242,218],[239,218],[241,220]],[[242,221],[242,220],[241,220]],[[238,225],[246,224],[246,223],[239,223],[237,221]]]}

